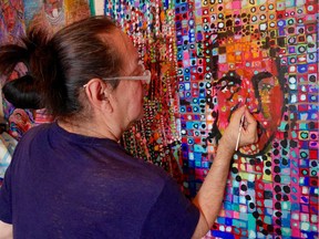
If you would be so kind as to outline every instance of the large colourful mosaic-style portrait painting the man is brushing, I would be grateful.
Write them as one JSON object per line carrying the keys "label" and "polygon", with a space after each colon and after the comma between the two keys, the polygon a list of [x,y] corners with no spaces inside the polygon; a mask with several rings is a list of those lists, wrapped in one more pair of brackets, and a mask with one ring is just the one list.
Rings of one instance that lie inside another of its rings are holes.
{"label": "large colourful mosaic-style portrait painting the man is brushing", "polygon": [[234,156],[212,237],[318,237],[318,170],[309,172],[318,165],[318,138],[308,136],[318,132],[317,8],[311,1],[176,3],[187,193],[196,194],[214,164],[233,110],[246,104],[260,123],[259,143]]}

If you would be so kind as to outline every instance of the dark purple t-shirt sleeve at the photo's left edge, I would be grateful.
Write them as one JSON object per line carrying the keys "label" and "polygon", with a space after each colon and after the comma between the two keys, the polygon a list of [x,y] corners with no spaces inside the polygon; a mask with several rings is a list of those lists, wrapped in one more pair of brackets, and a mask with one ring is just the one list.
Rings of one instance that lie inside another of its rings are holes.
{"label": "dark purple t-shirt sleeve at the photo's left edge", "polygon": [[11,165],[7,168],[3,184],[0,188],[0,220],[12,224],[11,214]]}

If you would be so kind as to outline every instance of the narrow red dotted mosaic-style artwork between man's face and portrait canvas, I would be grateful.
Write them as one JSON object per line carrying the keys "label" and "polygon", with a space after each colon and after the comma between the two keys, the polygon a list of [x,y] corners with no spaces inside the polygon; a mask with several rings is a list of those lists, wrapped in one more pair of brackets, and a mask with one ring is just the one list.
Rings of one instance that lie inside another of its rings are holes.
{"label": "narrow red dotted mosaic-style artwork between man's face and portrait canvas", "polygon": [[105,1],[104,10],[132,38],[141,60],[152,71],[145,116],[124,134],[123,144],[136,157],[165,168],[182,185],[174,4]]}

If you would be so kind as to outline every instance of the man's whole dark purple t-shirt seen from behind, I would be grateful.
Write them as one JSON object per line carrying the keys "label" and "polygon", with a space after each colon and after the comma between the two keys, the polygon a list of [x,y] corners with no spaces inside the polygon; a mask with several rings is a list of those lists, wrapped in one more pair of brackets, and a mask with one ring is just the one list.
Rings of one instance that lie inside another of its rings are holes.
{"label": "man's whole dark purple t-shirt seen from behind", "polygon": [[0,189],[14,238],[191,238],[197,208],[162,168],[56,123],[19,142]]}

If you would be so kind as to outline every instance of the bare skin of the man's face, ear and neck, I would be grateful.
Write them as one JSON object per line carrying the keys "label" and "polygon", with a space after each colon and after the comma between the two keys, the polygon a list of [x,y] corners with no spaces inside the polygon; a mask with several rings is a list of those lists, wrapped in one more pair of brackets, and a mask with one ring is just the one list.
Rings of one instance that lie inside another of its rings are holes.
{"label": "bare skin of the man's face, ear and neck", "polygon": [[[123,54],[122,76],[141,75],[138,53],[130,38],[120,30],[112,38],[120,54]],[[116,89],[112,89],[101,79],[91,79],[84,93],[92,110],[92,118],[85,126],[74,118],[61,118],[58,123],[71,133],[119,141],[124,131],[143,116],[144,84],[143,81],[122,80]]]}

